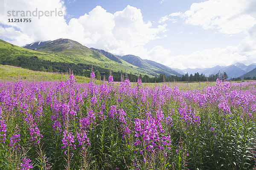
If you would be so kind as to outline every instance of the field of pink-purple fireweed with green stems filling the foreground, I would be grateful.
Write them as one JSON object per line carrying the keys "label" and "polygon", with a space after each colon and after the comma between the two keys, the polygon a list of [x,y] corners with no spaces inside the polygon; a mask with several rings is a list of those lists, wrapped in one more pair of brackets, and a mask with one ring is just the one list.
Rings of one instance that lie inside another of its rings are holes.
{"label": "field of pink-purple fireweed with green stems filling the foreground", "polygon": [[0,82],[1,170],[256,168],[256,81]]}

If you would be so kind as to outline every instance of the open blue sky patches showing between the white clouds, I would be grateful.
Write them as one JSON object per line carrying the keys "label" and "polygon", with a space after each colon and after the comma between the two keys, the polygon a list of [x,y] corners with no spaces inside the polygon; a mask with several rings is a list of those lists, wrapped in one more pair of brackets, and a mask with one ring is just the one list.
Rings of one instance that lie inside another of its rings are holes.
{"label": "open blue sky patches showing between the white clouds", "polygon": [[[192,3],[200,3],[205,0],[160,0],[145,2],[144,0],[65,0],[67,8],[67,22],[72,17],[80,17],[85,13],[88,14],[96,6],[102,6],[110,13],[122,11],[126,6],[134,6],[141,10],[143,20],[151,21],[152,26],[156,27],[161,17],[174,12],[185,12],[189,10]],[[223,34],[212,34],[214,30],[204,30],[200,26],[189,26],[182,20],[177,23],[168,23],[169,31],[167,37],[157,39],[145,45],[146,48],[154,48],[155,45],[162,45],[164,48],[172,50],[172,55],[190,54],[194,51],[206,48],[215,48],[216,46],[224,48],[229,45],[238,45],[243,39],[239,34],[232,37],[223,36]],[[181,32],[182,31],[182,32]],[[182,45],[181,45],[182,44]]]}

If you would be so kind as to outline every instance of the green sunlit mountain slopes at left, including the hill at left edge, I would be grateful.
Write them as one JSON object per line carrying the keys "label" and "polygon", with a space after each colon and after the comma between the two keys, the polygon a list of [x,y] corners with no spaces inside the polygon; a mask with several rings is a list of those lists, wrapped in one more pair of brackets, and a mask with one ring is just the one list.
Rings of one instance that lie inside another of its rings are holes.
{"label": "green sunlit mountain slopes at left, including the hill at left edge", "polygon": [[[29,62],[29,60],[40,60],[67,63],[73,65],[94,65],[96,68],[112,69],[112,71],[126,71],[128,73],[137,74],[138,70],[141,74],[147,74],[149,77],[154,77],[157,73],[153,71],[145,71],[134,65],[121,60],[122,63],[112,61],[98,51],[89,49],[78,42],[68,39],[58,39],[48,42],[36,51],[12,45],[8,42],[0,40],[0,64],[21,66],[20,61]],[[33,61],[36,62],[36,61]],[[27,63],[29,65],[30,63]],[[32,63],[31,63],[32,64]],[[71,65],[71,66],[73,66]],[[58,64],[58,68],[61,64]],[[29,68],[29,67],[28,67]],[[86,68],[88,70],[88,68]],[[66,68],[64,70],[67,70]]]}

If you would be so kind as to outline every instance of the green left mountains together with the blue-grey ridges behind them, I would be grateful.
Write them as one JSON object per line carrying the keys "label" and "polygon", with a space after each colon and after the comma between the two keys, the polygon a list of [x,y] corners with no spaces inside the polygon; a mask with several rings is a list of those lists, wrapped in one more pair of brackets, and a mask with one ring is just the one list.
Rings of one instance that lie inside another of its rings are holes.
{"label": "green left mountains together with the blue-grey ridges behind them", "polygon": [[[3,51],[3,52],[2,52]],[[0,63],[17,63],[20,57],[36,57],[41,61],[64,62],[75,65],[94,65],[97,68],[110,69],[114,72],[127,71],[127,73],[148,75],[149,77],[165,74],[166,76],[181,76],[172,69],[163,70],[158,66],[150,65],[140,57],[132,56],[128,62],[125,57],[117,57],[107,51],[87,48],[79,42],[70,39],[58,39],[53,41],[33,42],[23,48],[0,40]],[[4,55],[6,54],[6,55]],[[26,55],[29,54],[29,55]],[[6,58],[9,56],[10,58]],[[129,56],[129,55],[128,55]],[[124,58],[124,59],[122,59]],[[143,62],[143,66],[137,60]],[[131,64],[133,63],[133,64]]]}

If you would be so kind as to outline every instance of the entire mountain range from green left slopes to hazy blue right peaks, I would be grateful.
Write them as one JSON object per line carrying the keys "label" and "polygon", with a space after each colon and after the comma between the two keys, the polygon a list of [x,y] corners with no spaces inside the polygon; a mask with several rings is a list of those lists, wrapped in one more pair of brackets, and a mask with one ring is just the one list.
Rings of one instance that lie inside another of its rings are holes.
{"label": "entire mountain range from green left slopes to hazy blue right peaks", "polygon": [[[5,51],[8,46],[9,54]],[[3,47],[3,48],[2,48]],[[31,44],[26,44],[24,46],[17,47],[15,45],[11,45],[8,42],[0,40],[0,62],[7,61],[5,58],[8,55],[9,59],[15,60],[18,54],[22,54],[21,56],[37,56],[38,59],[47,60],[51,62],[65,62],[72,64],[86,64],[86,65],[94,65],[98,68],[109,69],[112,71],[127,71],[127,73],[137,74],[138,71],[140,74],[148,75],[149,77],[159,76],[160,74],[165,74],[167,76],[179,76],[181,77],[183,74],[188,73],[203,73],[206,76],[211,74],[217,74],[218,71],[226,72],[229,79],[236,77],[254,77],[256,76],[256,63],[250,65],[244,65],[242,63],[237,62],[236,64],[229,66],[215,66],[213,68],[186,68],[183,70],[177,68],[169,68],[166,65],[162,65],[160,63],[148,60],[141,59],[135,55],[124,55],[118,56],[111,54],[108,51],[104,51],[97,48],[87,48],[86,46],[80,44],[79,42],[70,40],[70,39],[58,39],[53,41],[40,41],[33,42]],[[24,50],[26,48],[26,50]],[[16,53],[15,53],[16,51]],[[6,53],[6,55],[4,55]],[[4,64],[4,62],[1,62]]]}

